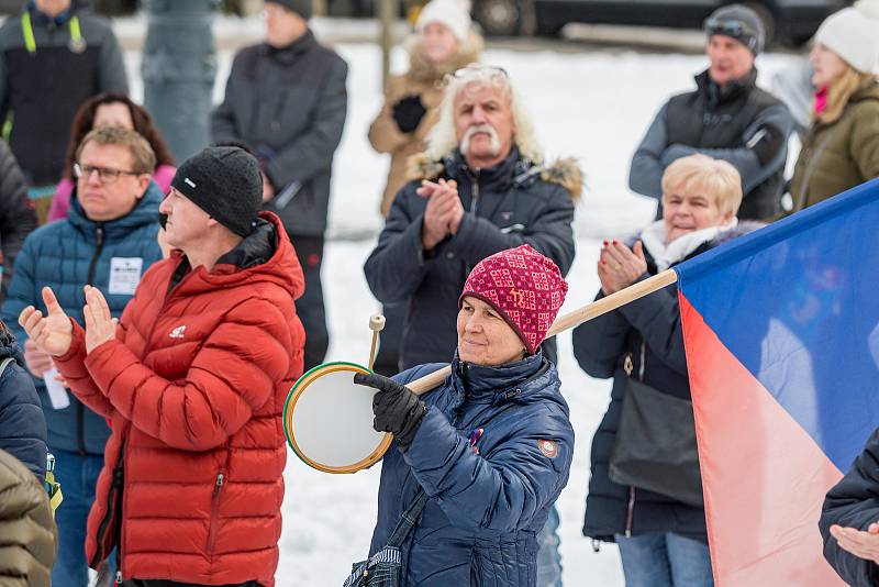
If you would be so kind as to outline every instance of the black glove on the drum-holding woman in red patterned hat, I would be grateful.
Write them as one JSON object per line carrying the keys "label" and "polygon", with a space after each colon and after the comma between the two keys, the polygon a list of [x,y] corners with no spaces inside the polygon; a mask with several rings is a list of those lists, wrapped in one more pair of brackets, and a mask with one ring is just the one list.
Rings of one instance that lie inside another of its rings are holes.
{"label": "black glove on the drum-holding woman in red patterned hat", "polygon": [[404,385],[383,375],[370,373],[356,374],[354,383],[378,389],[372,397],[372,428],[377,432],[390,432],[402,448],[408,448],[415,438],[421,419],[427,407]]}

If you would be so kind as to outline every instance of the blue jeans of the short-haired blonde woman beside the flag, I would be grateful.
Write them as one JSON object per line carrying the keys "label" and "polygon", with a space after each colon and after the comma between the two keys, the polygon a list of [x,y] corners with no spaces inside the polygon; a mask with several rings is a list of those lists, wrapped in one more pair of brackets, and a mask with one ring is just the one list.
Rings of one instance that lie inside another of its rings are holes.
{"label": "blue jeans of the short-haired blonde woman beside the flag", "polygon": [[626,587],[713,587],[708,544],[671,532],[616,534]]}

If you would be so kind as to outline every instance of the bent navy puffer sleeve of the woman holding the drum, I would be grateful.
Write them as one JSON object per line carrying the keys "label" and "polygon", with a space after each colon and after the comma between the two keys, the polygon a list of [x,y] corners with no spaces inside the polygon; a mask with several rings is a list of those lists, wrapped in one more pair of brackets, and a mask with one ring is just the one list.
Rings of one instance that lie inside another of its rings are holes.
{"label": "bent navy puffer sleeve of the woman holding the drum", "polygon": [[[542,409],[486,455],[476,454],[439,410],[430,410],[403,458],[454,524],[496,532],[526,529],[561,489],[574,445],[564,417]],[[543,440],[556,443],[555,458],[538,448]]]}

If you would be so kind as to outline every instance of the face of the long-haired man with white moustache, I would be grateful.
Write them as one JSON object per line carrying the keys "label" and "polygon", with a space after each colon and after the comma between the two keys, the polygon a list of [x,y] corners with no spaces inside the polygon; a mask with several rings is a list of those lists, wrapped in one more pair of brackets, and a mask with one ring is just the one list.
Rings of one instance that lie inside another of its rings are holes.
{"label": "face of the long-haired man with white moustache", "polygon": [[510,98],[498,87],[470,84],[455,98],[455,137],[470,167],[491,167],[510,153],[515,135]]}

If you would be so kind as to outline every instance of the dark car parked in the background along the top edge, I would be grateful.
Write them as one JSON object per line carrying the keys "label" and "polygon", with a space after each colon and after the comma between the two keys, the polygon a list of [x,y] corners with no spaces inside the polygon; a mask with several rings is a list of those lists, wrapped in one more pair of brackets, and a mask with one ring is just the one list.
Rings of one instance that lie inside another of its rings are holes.
{"label": "dark car parked in the background along the top edge", "polygon": [[[556,35],[571,22],[701,29],[723,0],[474,0],[472,14],[488,35]],[[768,42],[802,44],[846,0],[748,0]]]}

